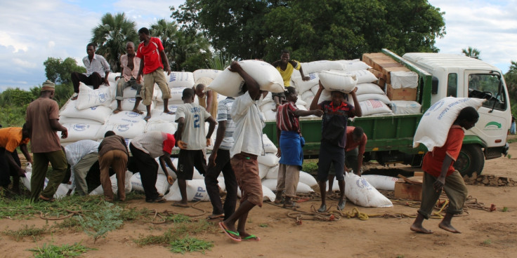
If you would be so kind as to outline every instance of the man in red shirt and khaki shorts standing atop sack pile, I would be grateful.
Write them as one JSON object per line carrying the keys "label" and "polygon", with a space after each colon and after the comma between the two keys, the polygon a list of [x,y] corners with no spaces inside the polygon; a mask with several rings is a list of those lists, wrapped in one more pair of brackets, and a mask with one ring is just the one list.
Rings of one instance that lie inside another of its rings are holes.
{"label": "man in red shirt and khaki shorts standing atop sack pile", "polygon": [[142,83],[143,74],[143,104],[147,108],[148,114],[145,116],[145,120],[151,118],[151,100],[152,93],[155,91],[155,83],[158,84],[160,90],[162,90],[162,99],[164,100],[164,113],[174,114],[173,111],[169,111],[169,98],[171,98],[171,90],[167,86],[167,79],[164,74],[171,74],[171,67],[169,66],[169,60],[165,55],[164,46],[162,41],[158,38],[149,36],[148,28],[141,28],[138,30],[138,38],[142,43],[138,45],[136,51],[136,57],[140,58],[140,69],[136,76],[136,83]]}

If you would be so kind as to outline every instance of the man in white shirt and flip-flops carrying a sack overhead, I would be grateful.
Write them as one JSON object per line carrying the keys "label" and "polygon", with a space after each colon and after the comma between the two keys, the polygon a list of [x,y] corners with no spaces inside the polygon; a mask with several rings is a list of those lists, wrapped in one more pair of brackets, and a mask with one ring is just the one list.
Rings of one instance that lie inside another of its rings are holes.
{"label": "man in white shirt and flip-flops carrying a sack overhead", "polygon": [[[245,83],[244,94],[235,98],[230,112],[235,121],[235,131],[233,132],[235,143],[230,149],[230,163],[235,172],[237,184],[240,186],[242,198],[239,208],[228,219],[220,222],[219,226],[226,236],[234,241],[258,241],[260,238],[247,233],[245,228],[249,211],[255,205],[262,207],[262,183],[258,176],[256,158],[258,155],[264,154],[262,128],[265,123],[258,110],[257,102],[268,92],[261,90],[255,79],[251,78],[238,62],[232,62],[230,71],[237,72]],[[235,228],[237,220],[239,223]]]}

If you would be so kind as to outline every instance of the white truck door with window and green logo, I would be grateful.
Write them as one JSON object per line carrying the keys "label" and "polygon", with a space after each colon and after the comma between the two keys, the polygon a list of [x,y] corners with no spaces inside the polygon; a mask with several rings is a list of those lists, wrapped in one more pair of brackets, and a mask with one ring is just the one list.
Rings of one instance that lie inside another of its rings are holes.
{"label": "white truck door with window and green logo", "polygon": [[[466,70],[464,73],[465,96],[486,99],[478,109],[479,121],[466,135],[477,135],[486,147],[506,144],[506,132],[511,119],[508,92],[499,72]],[[501,87],[499,87],[501,84]]]}

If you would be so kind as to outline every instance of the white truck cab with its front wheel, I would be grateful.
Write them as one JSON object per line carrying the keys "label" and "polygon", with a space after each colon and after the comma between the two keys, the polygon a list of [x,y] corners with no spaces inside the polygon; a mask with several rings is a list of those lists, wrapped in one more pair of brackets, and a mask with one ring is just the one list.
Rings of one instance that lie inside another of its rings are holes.
{"label": "white truck cab with its front wheel", "polygon": [[497,67],[472,57],[440,53],[406,53],[402,57],[432,76],[431,104],[443,97],[476,97],[486,101],[478,109],[474,128],[466,131],[455,168],[464,175],[483,170],[484,160],[506,154],[511,107],[504,76]]}

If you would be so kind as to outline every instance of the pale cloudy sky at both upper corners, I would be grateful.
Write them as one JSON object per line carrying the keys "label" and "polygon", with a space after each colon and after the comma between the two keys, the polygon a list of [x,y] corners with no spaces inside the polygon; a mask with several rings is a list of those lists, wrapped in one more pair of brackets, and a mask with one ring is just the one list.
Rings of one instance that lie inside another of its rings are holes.
{"label": "pale cloudy sky at both upper corners", "polygon": [[[29,89],[46,79],[47,57],[74,57],[82,65],[91,30],[104,13],[125,12],[137,27],[169,19],[169,6],[184,0],[15,0],[0,8],[0,91]],[[480,57],[503,72],[517,60],[517,0],[429,0],[445,12],[447,34],[440,53],[480,50]]]}

